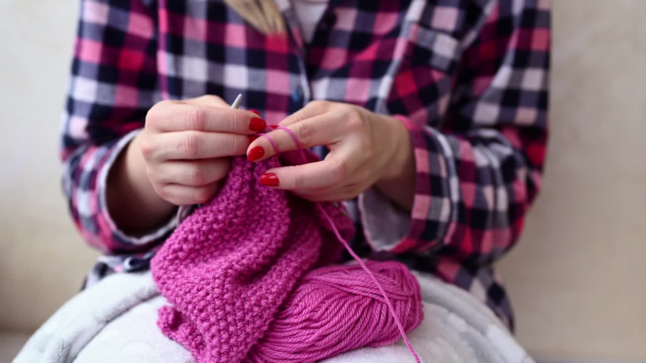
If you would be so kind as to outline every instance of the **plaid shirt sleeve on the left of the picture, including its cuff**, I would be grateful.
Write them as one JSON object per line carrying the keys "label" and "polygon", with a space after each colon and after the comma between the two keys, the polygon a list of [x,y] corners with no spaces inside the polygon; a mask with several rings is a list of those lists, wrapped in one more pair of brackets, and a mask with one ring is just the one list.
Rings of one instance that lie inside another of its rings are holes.
{"label": "plaid shirt sleeve on the left of the picture, including its cuff", "polygon": [[110,166],[159,99],[155,20],[143,1],[81,1],[62,116],[63,189],[72,218],[90,245],[108,253],[146,249],[176,223],[129,236],[106,206]]}

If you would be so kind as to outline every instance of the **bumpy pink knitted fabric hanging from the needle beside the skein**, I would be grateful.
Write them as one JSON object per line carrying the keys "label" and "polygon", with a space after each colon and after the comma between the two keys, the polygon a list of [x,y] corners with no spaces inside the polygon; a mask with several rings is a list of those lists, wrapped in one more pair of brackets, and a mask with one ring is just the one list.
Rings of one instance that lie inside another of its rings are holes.
{"label": "bumpy pink knitted fabric hanging from the needle beside the skein", "polygon": [[[317,160],[309,152],[307,158]],[[299,159],[292,152],[281,156],[283,165],[295,165]],[[256,182],[267,169],[278,166],[278,158],[260,163],[233,158],[218,196],[184,220],[152,260],[152,275],[161,295],[173,304],[160,309],[158,326],[200,363],[258,361],[266,355],[266,349],[252,348],[261,338],[271,339],[271,335],[265,337],[267,329],[275,316],[280,316],[279,309],[297,288],[298,280],[313,268],[340,257],[343,247],[315,203]],[[343,207],[320,205],[340,236],[349,240],[354,230]],[[363,273],[359,267],[353,269]],[[380,277],[382,284],[393,284],[402,273],[386,273]],[[365,273],[362,278],[362,284],[367,285]],[[406,331],[419,325],[422,316],[419,285],[416,281],[408,285],[402,287],[401,294],[408,300],[395,307],[401,315],[399,320],[406,323]],[[380,326],[390,321],[383,312],[378,311],[386,319],[380,318]],[[380,333],[390,334],[386,340],[363,339],[332,353],[388,344],[399,338],[393,324],[389,332]]]}

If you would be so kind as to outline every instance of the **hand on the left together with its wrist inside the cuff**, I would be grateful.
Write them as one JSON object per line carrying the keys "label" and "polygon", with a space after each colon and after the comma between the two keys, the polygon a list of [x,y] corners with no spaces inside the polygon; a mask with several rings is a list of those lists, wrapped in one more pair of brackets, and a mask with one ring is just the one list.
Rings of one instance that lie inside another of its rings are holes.
{"label": "hand on the left together with its wrist inside the cuff", "polygon": [[266,127],[257,113],[232,110],[217,96],[157,103],[110,169],[110,216],[124,231],[143,233],[177,205],[206,202],[229,172],[228,156],[244,155],[251,134]]}

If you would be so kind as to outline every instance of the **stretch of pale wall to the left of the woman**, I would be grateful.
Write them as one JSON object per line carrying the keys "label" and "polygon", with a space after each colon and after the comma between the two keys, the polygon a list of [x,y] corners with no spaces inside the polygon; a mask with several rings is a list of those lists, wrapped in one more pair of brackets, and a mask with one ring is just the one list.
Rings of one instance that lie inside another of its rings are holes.
{"label": "stretch of pale wall to the left of the woman", "polygon": [[58,159],[78,0],[0,0],[0,327],[33,329],[96,253],[68,218]]}

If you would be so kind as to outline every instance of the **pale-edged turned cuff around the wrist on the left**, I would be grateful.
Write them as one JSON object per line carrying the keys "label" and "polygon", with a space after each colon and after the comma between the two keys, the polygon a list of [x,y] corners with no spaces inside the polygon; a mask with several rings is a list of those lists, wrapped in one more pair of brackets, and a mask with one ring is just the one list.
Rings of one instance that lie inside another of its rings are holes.
{"label": "pale-edged turned cuff around the wrist on the left", "polygon": [[163,238],[163,236],[166,236],[170,231],[175,229],[180,221],[183,220],[183,218],[185,218],[185,216],[187,216],[191,211],[193,211],[193,208],[191,206],[180,207],[178,209],[178,213],[174,214],[170,220],[168,220],[166,223],[163,223],[163,225],[158,229],[144,234],[143,236],[132,236],[130,234],[127,234],[124,231],[121,231],[121,229],[116,226],[116,223],[114,223],[112,216],[110,216],[106,202],[106,185],[108,174],[110,172],[110,169],[112,168],[112,165],[114,165],[114,161],[140,131],[141,129],[130,132],[129,134],[121,138],[121,140],[119,140],[116,145],[114,145],[112,152],[110,152],[109,158],[105,161],[103,167],[101,167],[101,169],[99,170],[98,178],[96,181],[98,183],[99,205],[101,207],[99,218],[103,223],[107,225],[108,229],[112,231],[112,236],[115,236],[122,244],[131,245],[132,247],[148,245],[152,244],[152,242],[160,240],[161,238]]}

